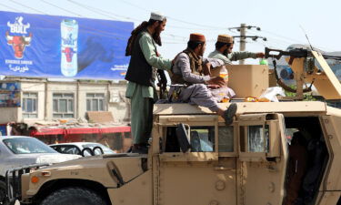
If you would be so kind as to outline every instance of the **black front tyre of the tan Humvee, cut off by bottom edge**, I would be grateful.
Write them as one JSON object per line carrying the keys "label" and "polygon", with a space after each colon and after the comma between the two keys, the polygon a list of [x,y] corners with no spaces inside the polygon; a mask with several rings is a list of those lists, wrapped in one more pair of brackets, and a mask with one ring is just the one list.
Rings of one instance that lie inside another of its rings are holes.
{"label": "black front tyre of the tan Humvee, cut off by bottom edge", "polygon": [[92,190],[70,187],[56,190],[43,200],[40,205],[106,205]]}

